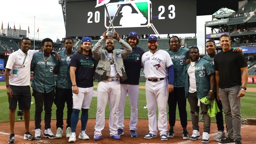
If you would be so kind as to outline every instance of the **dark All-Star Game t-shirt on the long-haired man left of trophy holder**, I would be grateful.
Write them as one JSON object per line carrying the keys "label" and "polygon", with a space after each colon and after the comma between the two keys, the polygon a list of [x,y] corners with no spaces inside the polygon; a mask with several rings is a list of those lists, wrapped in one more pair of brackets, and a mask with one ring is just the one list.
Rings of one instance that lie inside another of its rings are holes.
{"label": "dark All-Star Game t-shirt on the long-haired man left of trophy holder", "polygon": [[94,57],[77,53],[72,57],[70,66],[76,67],[75,75],[78,87],[86,88],[93,86],[93,75],[96,67]]}

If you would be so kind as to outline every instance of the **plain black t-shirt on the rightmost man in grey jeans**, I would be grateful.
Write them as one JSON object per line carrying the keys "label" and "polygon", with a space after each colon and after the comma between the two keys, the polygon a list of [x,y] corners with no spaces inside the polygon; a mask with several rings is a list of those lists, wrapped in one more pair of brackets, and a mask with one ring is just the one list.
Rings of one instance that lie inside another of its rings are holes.
{"label": "plain black t-shirt on the rightmost man in grey jeans", "polygon": [[244,55],[238,52],[233,52],[233,49],[228,52],[219,52],[214,57],[214,67],[219,71],[219,87],[222,89],[236,85],[242,85],[241,69],[247,66]]}

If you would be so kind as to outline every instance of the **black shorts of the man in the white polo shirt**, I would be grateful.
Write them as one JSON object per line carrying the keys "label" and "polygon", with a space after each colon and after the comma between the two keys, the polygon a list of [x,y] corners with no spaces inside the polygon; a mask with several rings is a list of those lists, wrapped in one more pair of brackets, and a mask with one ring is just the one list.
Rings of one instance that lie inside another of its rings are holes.
{"label": "black shorts of the man in the white polo shirt", "polygon": [[16,109],[17,102],[20,110],[30,109],[31,106],[31,92],[30,86],[15,86],[10,85],[13,95],[9,97],[9,109]]}

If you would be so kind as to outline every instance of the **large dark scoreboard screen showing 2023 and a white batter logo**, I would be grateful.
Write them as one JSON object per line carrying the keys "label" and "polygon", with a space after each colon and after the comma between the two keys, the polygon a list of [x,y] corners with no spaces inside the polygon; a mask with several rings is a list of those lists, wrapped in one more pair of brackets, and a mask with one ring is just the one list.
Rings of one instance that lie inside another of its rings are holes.
{"label": "large dark scoreboard screen showing 2023 and a white batter logo", "polygon": [[67,0],[66,36],[196,33],[196,0]]}

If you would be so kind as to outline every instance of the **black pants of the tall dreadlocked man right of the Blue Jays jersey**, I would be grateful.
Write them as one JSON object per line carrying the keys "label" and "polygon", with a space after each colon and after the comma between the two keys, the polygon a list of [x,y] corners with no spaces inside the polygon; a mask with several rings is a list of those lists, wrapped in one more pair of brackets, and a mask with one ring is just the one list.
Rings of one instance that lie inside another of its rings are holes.
{"label": "black pants of the tall dreadlocked man right of the Blue Jays jersey", "polygon": [[169,93],[168,106],[169,106],[169,124],[170,126],[175,126],[176,120],[176,107],[178,103],[178,110],[180,113],[181,126],[183,128],[187,127],[187,99],[185,98],[185,88],[184,87],[174,87],[174,90]]}

